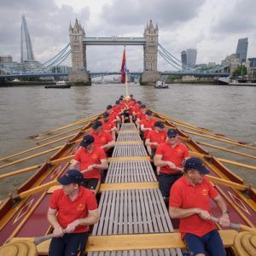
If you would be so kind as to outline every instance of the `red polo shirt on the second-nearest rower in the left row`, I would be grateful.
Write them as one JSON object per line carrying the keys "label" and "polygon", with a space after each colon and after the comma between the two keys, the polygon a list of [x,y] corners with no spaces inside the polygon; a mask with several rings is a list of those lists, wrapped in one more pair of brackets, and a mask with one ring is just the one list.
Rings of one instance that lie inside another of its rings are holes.
{"label": "red polo shirt on the second-nearest rower in the left row", "polygon": [[[74,155],[74,160],[79,161],[80,171],[85,170],[91,165],[100,165],[101,160],[107,159],[106,154],[102,148],[94,146],[92,152],[88,152],[84,147],[79,148],[79,150]],[[83,173],[85,178],[98,178],[101,179],[101,170],[92,169],[90,172]]]}

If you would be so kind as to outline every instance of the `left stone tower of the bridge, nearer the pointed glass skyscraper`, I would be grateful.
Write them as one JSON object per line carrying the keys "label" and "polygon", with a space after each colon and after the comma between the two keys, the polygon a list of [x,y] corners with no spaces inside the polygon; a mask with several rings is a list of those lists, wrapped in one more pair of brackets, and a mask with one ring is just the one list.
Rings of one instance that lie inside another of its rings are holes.
{"label": "left stone tower of the bridge, nearer the pointed glass skyscraper", "polygon": [[70,23],[68,32],[73,67],[73,71],[68,74],[68,82],[90,85],[90,77],[86,69],[86,45],[83,44],[85,32],[78,19],[73,27]]}

